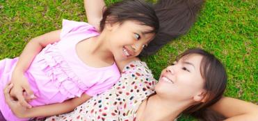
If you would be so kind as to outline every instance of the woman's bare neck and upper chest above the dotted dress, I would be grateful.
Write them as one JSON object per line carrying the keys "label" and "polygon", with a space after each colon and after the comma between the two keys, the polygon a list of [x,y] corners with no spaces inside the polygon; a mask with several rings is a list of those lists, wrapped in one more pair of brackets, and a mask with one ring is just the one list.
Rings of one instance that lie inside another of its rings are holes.
{"label": "woman's bare neck and upper chest above the dotted dress", "polygon": [[169,102],[162,99],[158,95],[152,95],[149,100],[145,100],[140,106],[140,115],[138,115],[138,120],[175,120],[177,116],[182,113],[188,106],[191,105],[191,102],[188,101],[177,101],[174,100]]}

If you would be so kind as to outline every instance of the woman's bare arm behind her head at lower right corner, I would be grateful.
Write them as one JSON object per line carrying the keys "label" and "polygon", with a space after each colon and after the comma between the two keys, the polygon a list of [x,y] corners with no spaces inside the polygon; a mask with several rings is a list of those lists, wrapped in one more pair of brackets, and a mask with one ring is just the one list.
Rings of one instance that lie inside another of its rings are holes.
{"label": "woman's bare arm behind her head at lower right corner", "polygon": [[258,106],[250,102],[223,97],[211,109],[227,117],[227,120],[258,120]]}

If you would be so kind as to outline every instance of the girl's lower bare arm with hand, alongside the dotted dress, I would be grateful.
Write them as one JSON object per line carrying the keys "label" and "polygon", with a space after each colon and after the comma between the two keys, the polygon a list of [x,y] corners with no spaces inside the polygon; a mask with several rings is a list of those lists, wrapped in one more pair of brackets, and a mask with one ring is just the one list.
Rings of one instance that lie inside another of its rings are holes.
{"label": "girl's lower bare arm with hand, alongside the dotted dress", "polygon": [[31,109],[27,109],[19,104],[19,102],[13,100],[12,97],[10,97],[9,92],[12,88],[13,84],[6,86],[6,89],[4,89],[4,95],[6,98],[6,103],[18,118],[46,117],[51,115],[68,113],[70,111],[73,111],[76,106],[79,106],[80,104],[83,104],[83,102],[86,102],[90,99],[89,95],[83,94],[81,95],[81,97],[75,97],[62,103],[49,104],[45,106],[35,106]]}

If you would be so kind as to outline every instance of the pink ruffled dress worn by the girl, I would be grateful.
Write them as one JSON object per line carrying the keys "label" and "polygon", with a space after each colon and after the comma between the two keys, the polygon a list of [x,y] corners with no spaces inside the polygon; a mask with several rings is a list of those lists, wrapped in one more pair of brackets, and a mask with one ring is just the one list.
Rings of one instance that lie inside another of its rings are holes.
{"label": "pink ruffled dress worn by the girl", "polygon": [[[46,46],[33,59],[24,73],[37,99],[30,104],[40,106],[64,102],[80,97],[83,93],[94,96],[111,88],[120,77],[114,63],[111,66],[95,68],[84,64],[76,55],[76,44],[99,33],[85,22],[63,20],[61,40]],[[5,102],[3,89],[10,81],[17,60],[0,61],[0,110],[10,121],[29,120],[17,118]]]}

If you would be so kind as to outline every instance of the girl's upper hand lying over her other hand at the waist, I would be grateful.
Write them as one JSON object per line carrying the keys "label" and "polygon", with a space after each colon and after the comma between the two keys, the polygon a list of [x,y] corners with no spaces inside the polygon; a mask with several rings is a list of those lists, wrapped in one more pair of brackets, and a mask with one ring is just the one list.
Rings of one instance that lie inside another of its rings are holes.
{"label": "girl's upper hand lying over her other hand at the waist", "polygon": [[17,99],[22,106],[31,108],[31,105],[28,102],[35,99],[35,95],[33,94],[33,91],[31,91],[29,82],[24,74],[19,71],[13,71],[10,82],[13,83],[13,89],[10,90],[10,96]]}

